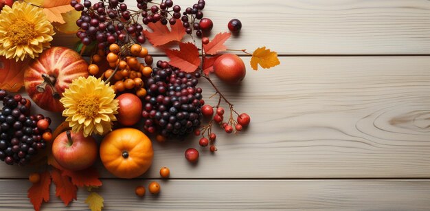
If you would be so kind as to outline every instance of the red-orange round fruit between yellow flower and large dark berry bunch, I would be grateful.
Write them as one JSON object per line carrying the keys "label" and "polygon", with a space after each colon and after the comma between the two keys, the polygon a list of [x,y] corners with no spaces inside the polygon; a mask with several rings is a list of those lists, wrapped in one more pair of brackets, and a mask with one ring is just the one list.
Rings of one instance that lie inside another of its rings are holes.
{"label": "red-orange round fruit between yellow flower and large dark berry bunch", "polygon": [[132,93],[123,93],[117,97],[117,119],[124,126],[132,126],[142,118],[142,100]]}

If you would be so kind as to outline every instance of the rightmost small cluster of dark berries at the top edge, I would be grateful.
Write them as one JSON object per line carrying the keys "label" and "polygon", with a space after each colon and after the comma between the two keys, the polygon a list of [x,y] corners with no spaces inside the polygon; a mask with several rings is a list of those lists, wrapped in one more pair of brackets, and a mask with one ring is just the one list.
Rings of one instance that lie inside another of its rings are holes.
{"label": "rightmost small cluster of dark berries at the top edge", "polygon": [[203,12],[201,12],[201,10],[205,8],[205,4],[205,0],[199,0],[197,3],[194,3],[194,5],[192,5],[192,8],[186,8],[185,11],[182,13],[183,16],[181,17],[181,21],[183,27],[185,27],[185,32],[187,32],[187,34],[192,34],[192,31],[194,30],[196,36],[203,36],[203,29],[201,29],[201,26],[196,20],[203,19]]}

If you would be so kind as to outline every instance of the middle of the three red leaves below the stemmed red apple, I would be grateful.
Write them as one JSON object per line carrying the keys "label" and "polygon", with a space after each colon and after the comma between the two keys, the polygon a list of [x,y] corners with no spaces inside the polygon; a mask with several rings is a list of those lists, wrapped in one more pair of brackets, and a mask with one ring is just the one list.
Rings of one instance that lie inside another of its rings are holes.
{"label": "middle of the three red leaves below the stemmed red apple", "polygon": [[78,191],[78,188],[71,183],[70,177],[61,175],[60,170],[56,168],[51,171],[51,177],[56,186],[56,197],[60,197],[61,201],[63,201],[66,206],[68,206],[73,199],[76,200],[76,191]]}

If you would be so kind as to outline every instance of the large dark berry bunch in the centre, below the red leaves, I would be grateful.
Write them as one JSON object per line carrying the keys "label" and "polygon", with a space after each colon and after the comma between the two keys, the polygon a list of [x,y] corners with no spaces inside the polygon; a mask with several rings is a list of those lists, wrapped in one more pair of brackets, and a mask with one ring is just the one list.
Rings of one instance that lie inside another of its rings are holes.
{"label": "large dark berry bunch in the centre, below the red leaves", "polygon": [[146,82],[144,130],[182,139],[201,125],[202,89],[199,72],[187,74],[158,61]]}

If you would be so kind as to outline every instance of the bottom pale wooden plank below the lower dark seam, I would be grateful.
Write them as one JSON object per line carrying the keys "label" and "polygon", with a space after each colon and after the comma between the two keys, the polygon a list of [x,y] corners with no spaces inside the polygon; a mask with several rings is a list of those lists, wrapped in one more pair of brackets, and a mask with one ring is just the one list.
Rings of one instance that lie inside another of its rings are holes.
{"label": "bottom pale wooden plank below the lower dark seam", "polygon": [[[177,180],[159,181],[160,195],[134,195],[146,180],[104,180],[104,210],[428,210],[429,180]],[[0,210],[32,210],[30,182],[0,180]],[[87,210],[87,190],[69,208],[55,197],[42,210]],[[148,191],[148,189],[146,188]],[[401,202],[401,203],[400,203]]]}

